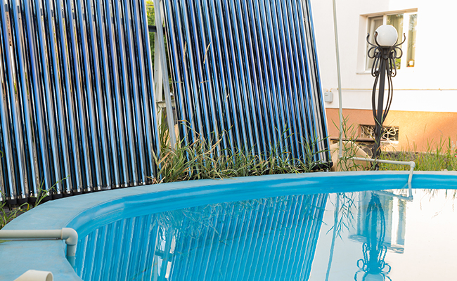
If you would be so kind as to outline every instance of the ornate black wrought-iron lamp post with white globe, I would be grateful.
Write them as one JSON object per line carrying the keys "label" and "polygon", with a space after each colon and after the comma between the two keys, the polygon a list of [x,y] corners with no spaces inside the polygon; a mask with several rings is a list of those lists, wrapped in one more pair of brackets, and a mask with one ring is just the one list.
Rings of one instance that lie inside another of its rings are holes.
{"label": "ornate black wrought-iron lamp post with white globe", "polygon": [[[397,43],[398,35],[397,30],[392,25],[381,25],[375,32],[375,44],[368,41],[370,34],[366,37],[366,41],[371,45],[368,49],[368,57],[373,58],[373,67],[371,67],[371,75],[375,77],[375,84],[373,85],[373,94],[371,103],[373,106],[373,117],[375,118],[375,146],[373,147],[373,159],[377,159],[380,155],[380,143],[382,136],[382,122],[384,122],[387,113],[389,112],[392,103],[393,87],[392,77],[397,74],[397,67],[395,60],[401,58],[403,52],[399,46],[403,44]],[[406,39],[406,37],[405,37]],[[385,110],[384,94],[385,94],[385,78],[387,76],[387,104]],[[376,105],[376,86],[379,83],[378,91],[378,105]],[[375,164],[375,169],[378,169],[378,164]]]}

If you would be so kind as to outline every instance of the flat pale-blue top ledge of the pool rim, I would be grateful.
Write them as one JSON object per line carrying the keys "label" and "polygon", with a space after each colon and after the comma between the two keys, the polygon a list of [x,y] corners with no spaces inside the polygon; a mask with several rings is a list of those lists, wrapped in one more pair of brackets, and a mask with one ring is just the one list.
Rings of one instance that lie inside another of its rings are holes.
{"label": "flat pale-blue top ledge of the pool rim", "polygon": [[[396,183],[404,181],[406,183],[407,171],[362,171],[362,172],[321,172],[310,174],[281,174],[270,176],[257,176],[246,178],[228,178],[224,180],[202,180],[186,181],[179,183],[165,183],[161,185],[144,185],[137,188],[124,188],[120,190],[110,190],[105,192],[96,192],[76,197],[67,197],[61,200],[46,202],[36,209],[32,209],[19,218],[16,218],[5,227],[5,229],[58,229],[69,226],[81,214],[86,212],[90,214],[94,208],[109,205],[109,202],[116,200],[125,200],[126,197],[139,197],[141,195],[157,195],[153,198],[160,198],[164,192],[176,192],[176,195],[184,196],[184,192],[193,190],[223,190],[224,188],[233,188],[235,185],[245,188],[250,183],[263,183],[268,181],[310,181],[320,180],[325,182],[335,181],[338,178],[346,181],[363,181],[363,178],[374,176],[375,181],[392,181]],[[457,178],[456,172],[416,172],[413,177],[413,184],[418,181],[449,181],[449,178]],[[217,186],[217,188],[214,188]],[[251,186],[254,186],[251,184]],[[213,188],[212,188],[213,187]],[[277,186],[276,188],[281,188]],[[326,188],[326,187],[323,187]],[[327,187],[329,192],[335,192],[332,187]],[[457,188],[457,186],[456,186]],[[247,191],[249,189],[246,189]],[[210,194],[209,192],[208,194]],[[163,198],[162,198],[163,200]],[[69,207],[70,206],[70,207]],[[65,207],[65,208],[63,208]],[[65,211],[58,211],[65,209]],[[100,208],[98,211],[103,211]],[[86,217],[85,219],[89,219]],[[30,248],[33,248],[30,253]],[[15,241],[4,242],[0,244],[0,263],[2,267],[8,270],[2,270],[0,280],[14,280],[20,274],[29,269],[49,270],[54,275],[54,280],[81,280],[65,259],[65,244],[62,241]],[[27,258],[25,258],[27,257]],[[29,262],[33,261],[33,262]],[[7,272],[6,272],[7,271]]]}

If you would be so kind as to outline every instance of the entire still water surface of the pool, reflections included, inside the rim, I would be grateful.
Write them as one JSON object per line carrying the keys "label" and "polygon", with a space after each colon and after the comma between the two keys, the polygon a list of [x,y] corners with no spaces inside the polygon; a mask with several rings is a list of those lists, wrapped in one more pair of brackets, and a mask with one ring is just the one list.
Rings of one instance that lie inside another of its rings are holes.
{"label": "entire still water surface of the pool, reflections included, inside the rim", "polygon": [[91,231],[75,271],[87,281],[452,280],[456,193],[320,192],[172,208]]}

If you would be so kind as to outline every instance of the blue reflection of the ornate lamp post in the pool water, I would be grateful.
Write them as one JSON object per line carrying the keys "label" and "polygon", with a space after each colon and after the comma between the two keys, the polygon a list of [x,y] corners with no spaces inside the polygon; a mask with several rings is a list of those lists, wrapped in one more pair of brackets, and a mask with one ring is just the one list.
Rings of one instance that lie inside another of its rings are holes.
{"label": "blue reflection of the ornate lamp post in the pool water", "polygon": [[[357,261],[359,271],[354,275],[358,280],[358,274],[362,275],[362,281],[368,280],[391,280],[386,276],[390,272],[390,266],[385,263],[387,247],[384,245],[385,216],[378,195],[371,193],[365,218],[366,242],[363,243],[363,259]],[[361,281],[359,280],[359,281]]]}

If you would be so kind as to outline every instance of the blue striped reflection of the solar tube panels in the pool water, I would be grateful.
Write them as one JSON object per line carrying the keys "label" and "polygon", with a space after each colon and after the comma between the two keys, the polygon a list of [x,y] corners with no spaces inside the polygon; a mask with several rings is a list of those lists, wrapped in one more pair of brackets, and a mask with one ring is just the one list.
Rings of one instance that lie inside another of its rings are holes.
{"label": "blue striped reflection of the solar tube panels in the pool water", "polygon": [[308,280],[328,195],[211,204],[82,237],[83,280]]}

